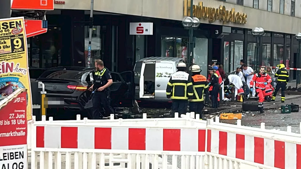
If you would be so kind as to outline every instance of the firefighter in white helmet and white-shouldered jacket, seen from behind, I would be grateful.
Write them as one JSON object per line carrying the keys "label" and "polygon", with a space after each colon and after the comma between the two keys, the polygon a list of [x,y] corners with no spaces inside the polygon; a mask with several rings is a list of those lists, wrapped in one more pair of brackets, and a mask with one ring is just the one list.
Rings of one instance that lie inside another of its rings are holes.
{"label": "firefighter in white helmet and white-shouldered jacket, seen from behind", "polygon": [[166,97],[172,99],[172,113],[178,112],[180,116],[187,112],[188,99],[192,99],[193,88],[191,78],[185,72],[186,64],[178,63],[177,69],[167,83]]}

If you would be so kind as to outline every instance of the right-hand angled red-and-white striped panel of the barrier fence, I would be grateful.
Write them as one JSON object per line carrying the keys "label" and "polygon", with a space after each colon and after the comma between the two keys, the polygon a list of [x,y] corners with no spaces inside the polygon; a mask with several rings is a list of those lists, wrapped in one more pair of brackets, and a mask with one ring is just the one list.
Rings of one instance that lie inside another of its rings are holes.
{"label": "right-hand angled red-and-white striped panel of the barrier fence", "polygon": [[240,126],[207,125],[207,152],[270,167],[301,168],[300,134]]}

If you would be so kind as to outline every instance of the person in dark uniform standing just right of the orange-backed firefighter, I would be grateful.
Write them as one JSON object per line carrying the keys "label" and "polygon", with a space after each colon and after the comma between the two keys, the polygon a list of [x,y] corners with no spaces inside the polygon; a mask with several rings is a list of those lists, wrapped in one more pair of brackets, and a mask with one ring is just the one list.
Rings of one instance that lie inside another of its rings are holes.
{"label": "person in dark uniform standing just right of the orange-backed firefighter", "polygon": [[219,96],[219,90],[220,90],[220,84],[219,84],[219,75],[216,74],[216,70],[213,68],[208,68],[209,74],[211,75],[209,86],[212,86],[211,91],[211,103],[212,108],[218,108],[219,102],[218,102],[218,96]]}

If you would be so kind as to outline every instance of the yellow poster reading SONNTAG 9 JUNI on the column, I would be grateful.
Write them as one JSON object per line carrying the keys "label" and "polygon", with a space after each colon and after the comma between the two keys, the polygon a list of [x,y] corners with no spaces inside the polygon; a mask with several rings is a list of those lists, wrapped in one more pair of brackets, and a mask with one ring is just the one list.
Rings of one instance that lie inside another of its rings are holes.
{"label": "yellow poster reading SONNTAG 9 JUNI on the column", "polygon": [[0,19],[0,101],[17,89],[27,89],[27,120],[32,118],[24,17]]}

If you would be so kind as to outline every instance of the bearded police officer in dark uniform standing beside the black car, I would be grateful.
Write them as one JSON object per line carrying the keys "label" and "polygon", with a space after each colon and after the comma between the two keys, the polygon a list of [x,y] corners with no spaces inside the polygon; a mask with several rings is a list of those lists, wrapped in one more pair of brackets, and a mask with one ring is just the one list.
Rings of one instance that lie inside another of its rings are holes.
{"label": "bearded police officer in dark uniform standing beside the black car", "polygon": [[93,94],[93,119],[99,119],[100,112],[99,109],[101,105],[103,106],[105,113],[104,117],[113,114],[113,109],[110,102],[110,85],[113,83],[110,71],[104,67],[104,62],[102,60],[95,60],[95,76],[94,84],[89,88],[90,91],[94,90]]}

